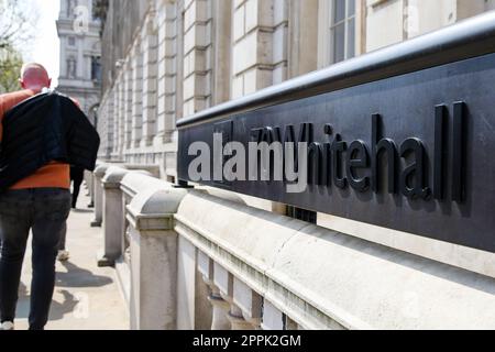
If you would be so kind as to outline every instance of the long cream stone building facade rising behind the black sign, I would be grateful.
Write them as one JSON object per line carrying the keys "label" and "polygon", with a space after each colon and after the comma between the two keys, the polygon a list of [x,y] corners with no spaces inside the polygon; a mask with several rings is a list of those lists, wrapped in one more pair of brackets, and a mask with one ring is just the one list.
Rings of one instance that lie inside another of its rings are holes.
{"label": "long cream stone building facade rising behind the black sign", "polygon": [[110,1],[101,157],[157,164],[172,179],[178,119],[494,8],[493,0]]}

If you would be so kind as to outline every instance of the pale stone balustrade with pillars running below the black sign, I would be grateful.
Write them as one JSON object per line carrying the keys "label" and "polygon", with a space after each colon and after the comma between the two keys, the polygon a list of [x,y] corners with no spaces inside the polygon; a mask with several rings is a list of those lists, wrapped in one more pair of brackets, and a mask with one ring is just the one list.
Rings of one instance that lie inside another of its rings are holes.
{"label": "pale stone balustrade with pillars running below the black sign", "polygon": [[495,328],[493,278],[105,167],[95,190],[133,329]]}

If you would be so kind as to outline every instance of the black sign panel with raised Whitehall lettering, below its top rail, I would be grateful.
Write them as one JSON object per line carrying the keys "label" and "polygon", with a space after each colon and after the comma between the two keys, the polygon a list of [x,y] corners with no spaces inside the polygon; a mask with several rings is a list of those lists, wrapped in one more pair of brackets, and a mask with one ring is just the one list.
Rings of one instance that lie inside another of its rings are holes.
{"label": "black sign panel with raised Whitehall lettering, below its top rail", "polygon": [[[215,133],[248,154],[249,143],[307,143],[308,187],[288,193],[273,169],[271,180],[219,180]],[[184,123],[183,180],[198,141],[212,153],[206,185],[495,252],[495,54]]]}

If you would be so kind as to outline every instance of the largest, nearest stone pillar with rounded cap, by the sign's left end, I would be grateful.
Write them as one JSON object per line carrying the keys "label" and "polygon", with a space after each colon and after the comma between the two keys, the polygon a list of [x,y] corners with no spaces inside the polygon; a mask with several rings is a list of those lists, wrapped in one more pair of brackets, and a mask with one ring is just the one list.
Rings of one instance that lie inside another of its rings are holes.
{"label": "largest, nearest stone pillar with rounded cap, by the sign's left end", "polygon": [[174,213],[185,189],[148,188],[128,207],[131,238],[131,328],[175,330],[177,233]]}

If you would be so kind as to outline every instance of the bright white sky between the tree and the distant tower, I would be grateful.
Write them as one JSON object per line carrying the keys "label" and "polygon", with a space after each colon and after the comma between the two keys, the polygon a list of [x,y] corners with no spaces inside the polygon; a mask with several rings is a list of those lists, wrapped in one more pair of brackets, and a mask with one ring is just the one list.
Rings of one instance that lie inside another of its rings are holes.
{"label": "bright white sky between the tree and the distant tower", "polygon": [[36,36],[28,47],[25,62],[36,62],[46,67],[52,77],[52,87],[57,86],[59,73],[59,42],[55,21],[58,18],[59,0],[25,0],[38,14]]}

